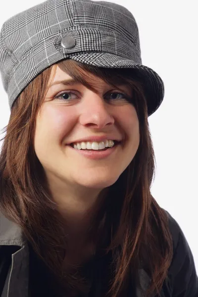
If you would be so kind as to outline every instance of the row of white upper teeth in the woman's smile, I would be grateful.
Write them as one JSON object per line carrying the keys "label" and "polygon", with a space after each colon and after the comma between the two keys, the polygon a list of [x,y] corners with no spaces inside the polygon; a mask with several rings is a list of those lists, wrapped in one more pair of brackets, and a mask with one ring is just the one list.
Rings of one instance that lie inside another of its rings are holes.
{"label": "row of white upper teeth in the woman's smile", "polygon": [[101,142],[81,142],[73,144],[76,149],[104,149],[104,148],[112,148],[114,146],[113,140],[106,140]]}

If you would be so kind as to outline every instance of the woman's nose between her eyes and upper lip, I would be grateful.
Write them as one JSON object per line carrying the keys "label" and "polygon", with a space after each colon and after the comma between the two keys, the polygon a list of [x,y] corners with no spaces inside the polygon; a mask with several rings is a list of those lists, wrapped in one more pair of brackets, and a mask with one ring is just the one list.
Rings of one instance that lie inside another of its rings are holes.
{"label": "woman's nose between her eyes and upper lip", "polygon": [[80,123],[89,128],[102,129],[114,124],[111,114],[113,106],[105,102],[102,96],[90,91],[81,105]]}

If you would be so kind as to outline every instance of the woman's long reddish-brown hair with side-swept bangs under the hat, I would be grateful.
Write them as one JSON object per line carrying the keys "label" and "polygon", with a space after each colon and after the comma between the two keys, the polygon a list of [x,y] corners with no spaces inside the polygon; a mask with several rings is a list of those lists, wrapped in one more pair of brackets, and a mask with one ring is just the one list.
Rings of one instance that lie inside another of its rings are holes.
{"label": "woman's long reddish-brown hair with side-swept bangs under the hat", "polygon": [[[28,242],[57,280],[67,284],[68,296],[75,296],[75,290],[83,290],[81,276],[64,271],[67,238],[34,150],[36,117],[48,90],[52,66],[29,83],[11,109],[0,154],[0,209],[21,226]],[[71,59],[56,66],[90,90],[95,89],[89,73],[112,86],[123,82],[132,87],[131,103],[139,119],[140,145],[126,170],[109,187],[90,234],[93,237],[95,234],[98,249],[112,254],[106,296],[125,296],[132,278],[140,286],[138,269],[142,263],[150,277],[146,296],[160,294],[168,277],[173,246],[167,214],[150,193],[155,157],[148,126],[147,94],[137,69],[99,68]]]}

